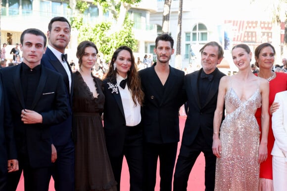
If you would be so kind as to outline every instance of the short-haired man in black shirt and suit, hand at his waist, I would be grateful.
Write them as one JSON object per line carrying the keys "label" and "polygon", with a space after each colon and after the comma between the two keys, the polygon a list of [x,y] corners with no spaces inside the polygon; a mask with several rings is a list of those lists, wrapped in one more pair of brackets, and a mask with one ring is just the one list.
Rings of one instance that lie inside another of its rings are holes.
{"label": "short-haired man in black shirt and suit, hand at his waist", "polygon": [[47,38],[38,29],[20,37],[23,62],[0,70],[14,126],[19,171],[8,174],[15,191],[23,169],[25,191],[48,191],[52,154],[50,126],[65,120],[68,103],[61,75],[41,66]]}

